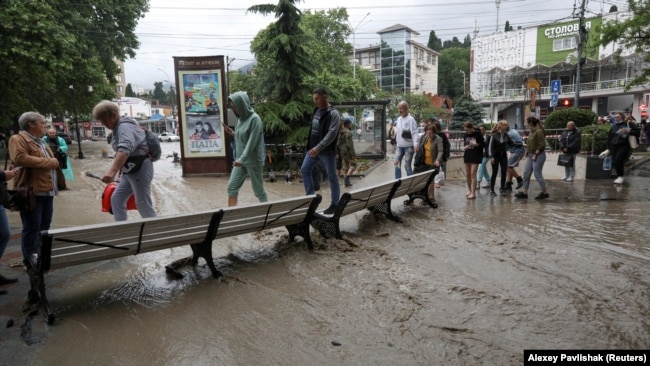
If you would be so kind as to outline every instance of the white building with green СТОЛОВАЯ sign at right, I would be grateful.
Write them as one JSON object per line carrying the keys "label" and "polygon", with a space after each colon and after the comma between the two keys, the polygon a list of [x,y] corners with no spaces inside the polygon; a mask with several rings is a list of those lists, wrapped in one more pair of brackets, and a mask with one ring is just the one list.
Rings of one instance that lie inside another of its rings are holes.
{"label": "white building with green \u0421\u0422\u041e\u041b\u041e\u0412\u0410\u042f sign at right", "polygon": [[[545,118],[557,108],[573,106],[598,115],[613,110],[630,111],[640,119],[639,106],[650,96],[643,87],[625,86],[646,67],[642,55],[624,52],[617,64],[618,45],[593,46],[603,22],[623,19],[629,13],[610,13],[584,20],[586,42],[580,86],[576,88],[578,19],[499,32],[472,40],[470,91],[487,111],[489,120],[506,119],[521,126],[535,114]],[[551,90],[551,85],[559,86]]]}

